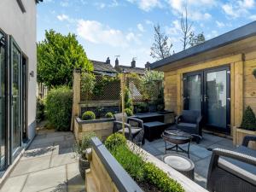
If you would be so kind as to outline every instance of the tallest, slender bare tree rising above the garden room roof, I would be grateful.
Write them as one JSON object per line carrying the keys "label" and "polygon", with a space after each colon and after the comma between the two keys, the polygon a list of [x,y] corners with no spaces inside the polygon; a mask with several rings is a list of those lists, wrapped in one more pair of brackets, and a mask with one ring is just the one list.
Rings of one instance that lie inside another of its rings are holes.
{"label": "tallest, slender bare tree rising above the garden room roof", "polygon": [[183,38],[181,39],[183,43],[183,50],[187,48],[187,45],[189,44],[189,36],[191,34],[191,27],[193,23],[189,23],[188,21],[188,9],[187,6],[185,6],[185,16],[180,19],[180,26],[183,32]]}

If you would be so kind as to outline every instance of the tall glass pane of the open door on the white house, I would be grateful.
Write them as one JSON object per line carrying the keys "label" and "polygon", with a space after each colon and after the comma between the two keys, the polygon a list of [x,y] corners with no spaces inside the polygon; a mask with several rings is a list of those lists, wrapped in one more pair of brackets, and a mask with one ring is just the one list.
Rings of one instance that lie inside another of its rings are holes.
{"label": "tall glass pane of the open door on the white house", "polygon": [[12,46],[11,66],[11,91],[12,91],[12,138],[13,154],[20,147],[20,50]]}

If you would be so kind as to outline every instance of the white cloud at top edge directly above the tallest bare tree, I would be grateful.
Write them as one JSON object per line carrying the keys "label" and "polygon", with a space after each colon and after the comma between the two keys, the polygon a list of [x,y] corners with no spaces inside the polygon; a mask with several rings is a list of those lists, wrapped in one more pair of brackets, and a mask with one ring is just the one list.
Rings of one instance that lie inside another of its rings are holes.
{"label": "white cloud at top edge directly above the tallest bare tree", "polygon": [[216,0],[168,0],[168,3],[175,15],[184,14],[185,7],[188,9],[188,17],[191,20],[209,20],[212,15],[207,13],[217,5]]}

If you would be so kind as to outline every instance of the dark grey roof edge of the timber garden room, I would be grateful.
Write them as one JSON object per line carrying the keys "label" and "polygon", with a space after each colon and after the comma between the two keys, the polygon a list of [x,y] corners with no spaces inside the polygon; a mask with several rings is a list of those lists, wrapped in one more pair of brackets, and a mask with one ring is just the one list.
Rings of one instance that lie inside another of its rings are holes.
{"label": "dark grey roof edge of the timber garden room", "polygon": [[226,32],[216,38],[207,40],[202,44],[195,45],[189,49],[185,49],[177,54],[166,57],[163,60],[156,61],[150,64],[151,69],[156,69],[159,67],[164,67],[166,65],[172,65],[176,61],[181,61],[183,59],[199,55],[201,53],[207,52],[212,49],[218,49],[224,47],[225,45],[235,43],[245,38],[250,38],[256,35],[256,21],[253,21],[246,26],[241,26],[233,31]]}

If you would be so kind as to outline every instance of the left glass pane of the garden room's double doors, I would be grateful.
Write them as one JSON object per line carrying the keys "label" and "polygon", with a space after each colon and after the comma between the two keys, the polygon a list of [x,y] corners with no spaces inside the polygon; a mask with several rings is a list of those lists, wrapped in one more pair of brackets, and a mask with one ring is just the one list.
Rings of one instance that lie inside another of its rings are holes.
{"label": "left glass pane of the garden room's double doors", "polygon": [[187,75],[185,81],[184,109],[201,111],[202,75]]}

